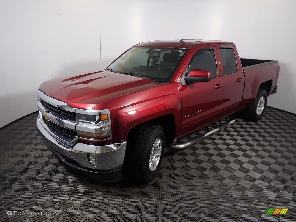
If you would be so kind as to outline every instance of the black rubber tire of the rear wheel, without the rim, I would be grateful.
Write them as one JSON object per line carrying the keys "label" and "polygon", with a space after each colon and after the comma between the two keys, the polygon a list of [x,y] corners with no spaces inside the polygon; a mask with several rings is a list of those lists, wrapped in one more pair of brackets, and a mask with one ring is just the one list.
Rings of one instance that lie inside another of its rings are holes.
{"label": "black rubber tire of the rear wheel, without the rim", "polygon": [[[258,114],[257,105],[258,105],[258,102],[262,96],[265,99],[264,100],[264,107],[263,107],[262,111],[259,112],[260,114]],[[246,114],[247,118],[251,121],[254,121],[254,122],[259,120],[263,116],[263,113],[266,109],[266,104],[267,104],[267,93],[264,89],[259,89],[254,102],[252,103],[252,105],[249,108],[247,108],[245,110],[245,114]]]}

